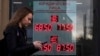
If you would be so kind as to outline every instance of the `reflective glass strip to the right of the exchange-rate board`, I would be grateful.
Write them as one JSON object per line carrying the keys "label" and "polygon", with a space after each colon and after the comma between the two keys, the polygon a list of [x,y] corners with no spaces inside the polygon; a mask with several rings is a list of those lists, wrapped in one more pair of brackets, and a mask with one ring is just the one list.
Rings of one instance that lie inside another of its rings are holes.
{"label": "reflective glass strip to the right of the exchange-rate board", "polygon": [[77,0],[77,55],[94,56],[93,0]]}

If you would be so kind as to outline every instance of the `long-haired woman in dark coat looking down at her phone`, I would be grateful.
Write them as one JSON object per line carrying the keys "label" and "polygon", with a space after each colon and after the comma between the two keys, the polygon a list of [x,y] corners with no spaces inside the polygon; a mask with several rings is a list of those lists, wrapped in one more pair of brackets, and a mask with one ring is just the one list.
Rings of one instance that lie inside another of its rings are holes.
{"label": "long-haired woman in dark coat looking down at her phone", "polygon": [[27,7],[20,8],[14,13],[4,30],[6,56],[30,56],[42,47],[40,41],[26,43],[25,28],[31,24],[32,15],[32,11]]}

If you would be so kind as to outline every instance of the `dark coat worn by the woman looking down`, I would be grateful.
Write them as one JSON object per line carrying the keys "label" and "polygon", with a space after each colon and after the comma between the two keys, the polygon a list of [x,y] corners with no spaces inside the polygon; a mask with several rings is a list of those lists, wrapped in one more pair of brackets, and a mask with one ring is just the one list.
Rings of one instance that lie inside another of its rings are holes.
{"label": "dark coat worn by the woman looking down", "polygon": [[19,26],[8,26],[4,31],[6,56],[30,56],[38,51],[32,43],[27,44],[26,30]]}

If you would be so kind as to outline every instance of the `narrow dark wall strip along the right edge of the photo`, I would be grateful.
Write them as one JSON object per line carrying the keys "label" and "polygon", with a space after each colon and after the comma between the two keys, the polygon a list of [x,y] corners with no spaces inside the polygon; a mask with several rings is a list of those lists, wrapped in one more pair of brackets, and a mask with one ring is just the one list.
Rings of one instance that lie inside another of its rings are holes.
{"label": "narrow dark wall strip along the right edge of the photo", "polygon": [[95,56],[100,56],[100,0],[94,2],[93,37],[95,42]]}

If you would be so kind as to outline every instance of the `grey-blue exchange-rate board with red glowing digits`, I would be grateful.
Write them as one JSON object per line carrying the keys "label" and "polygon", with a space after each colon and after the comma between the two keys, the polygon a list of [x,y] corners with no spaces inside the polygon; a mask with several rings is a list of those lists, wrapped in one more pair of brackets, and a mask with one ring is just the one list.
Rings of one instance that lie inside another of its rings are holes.
{"label": "grey-blue exchange-rate board with red glowing digits", "polygon": [[47,41],[34,55],[76,55],[72,40],[74,25],[66,13],[66,4],[66,1],[33,2],[33,41]]}

